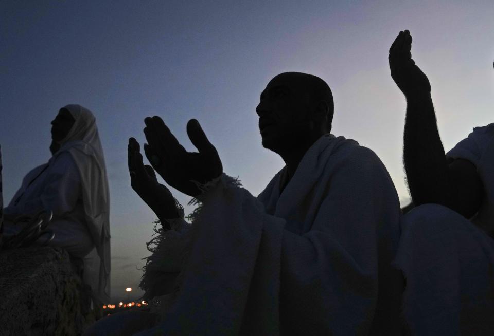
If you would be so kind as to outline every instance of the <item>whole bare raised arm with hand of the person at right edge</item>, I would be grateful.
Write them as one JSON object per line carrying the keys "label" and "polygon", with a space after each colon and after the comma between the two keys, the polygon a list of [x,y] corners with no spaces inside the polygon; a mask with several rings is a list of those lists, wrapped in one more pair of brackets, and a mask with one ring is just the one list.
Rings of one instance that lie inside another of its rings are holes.
{"label": "whole bare raised arm with hand of the person at right edge", "polygon": [[475,166],[464,159],[448,159],[437,130],[427,76],[412,60],[412,37],[400,32],[390,48],[391,76],[407,98],[403,161],[416,206],[437,203],[470,218],[483,198]]}

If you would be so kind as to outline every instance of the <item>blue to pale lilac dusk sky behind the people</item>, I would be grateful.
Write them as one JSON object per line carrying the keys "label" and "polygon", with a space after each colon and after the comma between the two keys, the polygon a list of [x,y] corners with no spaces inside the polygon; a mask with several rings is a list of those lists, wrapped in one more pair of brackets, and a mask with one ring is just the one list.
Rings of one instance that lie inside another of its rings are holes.
{"label": "blue to pale lilac dusk sky behind the people", "polygon": [[[185,125],[197,118],[225,173],[257,195],[284,165],[261,146],[259,94],[276,74],[300,71],[329,84],[332,133],[374,150],[404,205],[405,99],[389,47],[411,31],[449,150],[494,122],[493,17],[492,1],[2,1],[4,203],[48,161],[59,108],[89,108],[109,173],[112,295],[132,287],[137,297],[155,216],[130,187],[128,138],[144,143],[144,118],[159,115],[195,150]],[[190,197],[171,191],[186,206]]]}

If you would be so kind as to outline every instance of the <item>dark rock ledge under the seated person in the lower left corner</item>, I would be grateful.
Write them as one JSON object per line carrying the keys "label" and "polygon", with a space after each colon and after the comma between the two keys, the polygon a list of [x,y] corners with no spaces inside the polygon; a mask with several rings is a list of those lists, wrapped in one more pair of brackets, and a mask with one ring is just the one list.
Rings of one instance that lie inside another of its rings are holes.
{"label": "dark rock ledge under the seated person in the lower left corner", "polygon": [[63,249],[0,252],[2,335],[81,334],[91,323],[82,313],[81,289],[81,279]]}

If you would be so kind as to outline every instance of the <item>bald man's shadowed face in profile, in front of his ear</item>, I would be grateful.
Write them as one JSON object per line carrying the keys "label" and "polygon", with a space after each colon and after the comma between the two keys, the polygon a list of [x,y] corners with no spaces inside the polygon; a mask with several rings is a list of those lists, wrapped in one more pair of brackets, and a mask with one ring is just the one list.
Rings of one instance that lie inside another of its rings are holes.
{"label": "bald man's shadowed face in profile, in front of his ear", "polygon": [[290,73],[273,78],[262,91],[256,112],[262,146],[278,152],[296,144],[309,132],[302,81]]}

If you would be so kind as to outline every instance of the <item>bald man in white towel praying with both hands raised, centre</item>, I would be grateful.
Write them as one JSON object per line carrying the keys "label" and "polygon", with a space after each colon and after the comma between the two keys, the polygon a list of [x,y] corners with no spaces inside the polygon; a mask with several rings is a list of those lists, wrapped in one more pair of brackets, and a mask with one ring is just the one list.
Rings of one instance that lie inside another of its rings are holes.
{"label": "bald man in white towel praying with both hands raised, centre", "polygon": [[400,209],[385,167],[329,133],[320,78],[279,74],[256,111],[262,145],[286,163],[257,198],[223,173],[196,120],[188,153],[162,119],[145,119],[153,168],[200,204],[191,225],[129,140],[133,188],[164,224],[142,283],[161,320],[142,334],[398,334]]}

